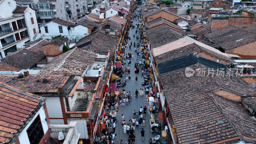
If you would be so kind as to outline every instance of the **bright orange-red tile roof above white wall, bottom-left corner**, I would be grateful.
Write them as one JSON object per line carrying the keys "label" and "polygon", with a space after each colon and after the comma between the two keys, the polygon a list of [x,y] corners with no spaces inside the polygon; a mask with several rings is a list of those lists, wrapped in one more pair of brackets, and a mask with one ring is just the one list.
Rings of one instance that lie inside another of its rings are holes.
{"label": "bright orange-red tile roof above white wall, bottom-left corner", "polygon": [[0,141],[14,142],[12,138],[20,135],[31,118],[43,105],[43,97],[20,91],[0,82]]}

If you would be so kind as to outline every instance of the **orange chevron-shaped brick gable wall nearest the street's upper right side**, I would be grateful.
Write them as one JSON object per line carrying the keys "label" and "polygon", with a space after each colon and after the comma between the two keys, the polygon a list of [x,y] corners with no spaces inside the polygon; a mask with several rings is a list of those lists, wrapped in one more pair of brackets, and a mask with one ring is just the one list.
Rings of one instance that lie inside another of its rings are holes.
{"label": "orange chevron-shaped brick gable wall nearest the street's upper right side", "polygon": [[172,14],[162,11],[162,12],[159,12],[152,16],[147,17],[146,20],[147,20],[147,22],[149,22],[152,20],[156,20],[157,18],[160,18],[160,17],[162,17],[166,20],[169,20],[171,22],[174,22],[174,20],[180,19],[180,17],[178,17],[178,16],[175,16],[175,15],[172,15]]}

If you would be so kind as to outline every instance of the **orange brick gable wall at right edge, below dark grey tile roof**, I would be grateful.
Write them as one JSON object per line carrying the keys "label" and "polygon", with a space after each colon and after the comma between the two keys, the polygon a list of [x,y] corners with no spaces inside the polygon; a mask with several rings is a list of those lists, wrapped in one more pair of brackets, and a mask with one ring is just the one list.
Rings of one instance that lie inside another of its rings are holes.
{"label": "orange brick gable wall at right edge, below dark grey tile roof", "polygon": [[249,44],[244,44],[234,49],[225,50],[226,53],[237,54],[241,59],[255,59],[256,58],[256,41]]}

